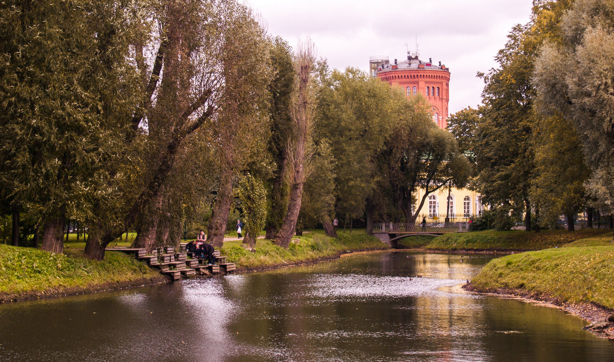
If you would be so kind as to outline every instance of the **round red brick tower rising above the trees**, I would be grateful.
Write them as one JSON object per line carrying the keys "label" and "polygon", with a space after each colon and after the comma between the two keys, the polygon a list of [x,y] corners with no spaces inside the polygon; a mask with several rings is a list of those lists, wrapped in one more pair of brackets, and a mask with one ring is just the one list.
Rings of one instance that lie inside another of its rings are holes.
{"label": "round red brick tower rising above the trees", "polygon": [[441,128],[448,126],[448,101],[450,71],[439,62],[434,65],[429,61],[421,61],[418,55],[407,55],[407,60],[394,64],[381,59],[378,66],[377,77],[388,82],[391,86],[402,87],[403,92],[410,96],[422,93],[431,104],[433,122]]}

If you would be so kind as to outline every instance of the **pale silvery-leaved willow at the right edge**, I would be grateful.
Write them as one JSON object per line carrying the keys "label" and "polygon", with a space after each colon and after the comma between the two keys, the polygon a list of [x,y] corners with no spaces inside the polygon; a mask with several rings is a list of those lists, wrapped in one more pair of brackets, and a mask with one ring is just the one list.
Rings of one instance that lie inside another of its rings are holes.
{"label": "pale silvery-leaved willow at the right edge", "polygon": [[[578,0],[562,17],[561,38],[540,48],[534,72],[539,111],[563,117],[577,132],[588,189],[614,208],[614,4]],[[594,65],[594,66],[588,66]]]}

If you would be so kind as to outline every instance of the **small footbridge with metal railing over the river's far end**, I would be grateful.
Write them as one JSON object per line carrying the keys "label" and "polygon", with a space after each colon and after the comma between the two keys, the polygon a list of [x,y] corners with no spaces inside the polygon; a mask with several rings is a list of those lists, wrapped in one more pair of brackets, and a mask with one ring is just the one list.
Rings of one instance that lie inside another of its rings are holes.
{"label": "small footbridge with metal railing over the river's far end", "polygon": [[381,222],[373,224],[373,236],[392,248],[398,247],[398,240],[416,235],[439,236],[450,232],[466,232],[469,222]]}

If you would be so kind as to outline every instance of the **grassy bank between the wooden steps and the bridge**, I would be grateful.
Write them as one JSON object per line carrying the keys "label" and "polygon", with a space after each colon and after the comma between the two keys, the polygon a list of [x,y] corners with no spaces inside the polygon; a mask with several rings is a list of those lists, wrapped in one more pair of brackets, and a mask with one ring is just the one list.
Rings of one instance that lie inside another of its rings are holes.
{"label": "grassy bank between the wooden steps and the bridge", "polygon": [[273,245],[270,240],[258,239],[254,253],[241,246],[241,242],[225,242],[222,255],[229,262],[236,262],[238,270],[268,269],[303,262],[331,259],[336,256],[363,250],[384,250],[388,247],[364,232],[339,232],[338,238],[330,238],[321,231],[295,237],[288,249]]}

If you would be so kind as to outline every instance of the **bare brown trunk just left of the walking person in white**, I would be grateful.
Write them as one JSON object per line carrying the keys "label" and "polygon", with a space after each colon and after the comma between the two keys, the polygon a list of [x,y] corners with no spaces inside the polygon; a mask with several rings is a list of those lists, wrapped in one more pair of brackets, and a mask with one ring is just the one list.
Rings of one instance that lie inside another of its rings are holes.
{"label": "bare brown trunk just left of the walking person in white", "polygon": [[222,162],[220,166],[220,187],[207,227],[207,240],[216,248],[223,246],[230,203],[232,202],[233,168],[230,158],[227,159],[227,162]]}

